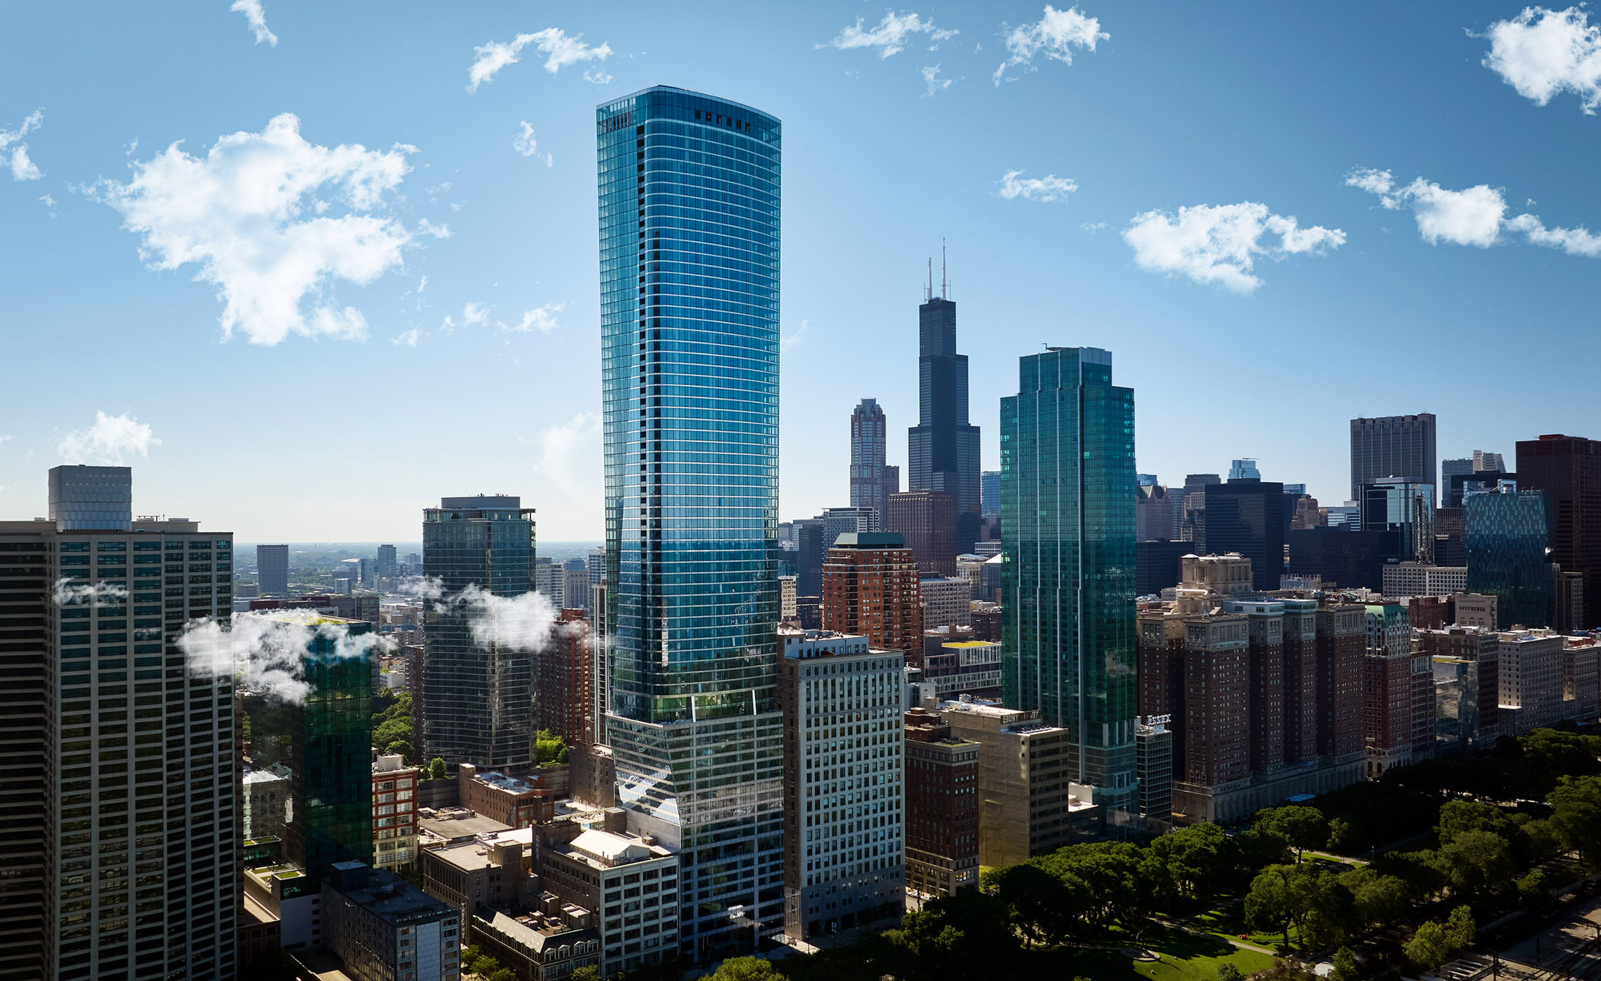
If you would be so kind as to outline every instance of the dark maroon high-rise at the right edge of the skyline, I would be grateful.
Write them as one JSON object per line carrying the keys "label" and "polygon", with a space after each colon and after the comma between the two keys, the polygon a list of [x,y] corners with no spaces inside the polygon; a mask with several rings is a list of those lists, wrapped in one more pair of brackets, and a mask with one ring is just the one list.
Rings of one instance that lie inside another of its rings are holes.
{"label": "dark maroon high-rise at the right edge of the skyline", "polygon": [[1545,491],[1551,562],[1582,573],[1583,627],[1601,627],[1601,440],[1518,440],[1518,486]]}

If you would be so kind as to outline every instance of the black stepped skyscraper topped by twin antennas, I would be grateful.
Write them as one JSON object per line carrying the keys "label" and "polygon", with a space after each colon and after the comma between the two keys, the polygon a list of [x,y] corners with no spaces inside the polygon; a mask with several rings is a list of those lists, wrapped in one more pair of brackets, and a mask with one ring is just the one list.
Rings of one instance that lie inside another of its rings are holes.
{"label": "black stepped skyscraper topped by twin antennas", "polygon": [[967,421],[967,355],[956,354],[956,302],[945,296],[943,278],[935,296],[930,272],[925,302],[917,307],[917,424],[906,432],[906,490],[951,495],[954,555],[973,551],[981,501],[978,427]]}

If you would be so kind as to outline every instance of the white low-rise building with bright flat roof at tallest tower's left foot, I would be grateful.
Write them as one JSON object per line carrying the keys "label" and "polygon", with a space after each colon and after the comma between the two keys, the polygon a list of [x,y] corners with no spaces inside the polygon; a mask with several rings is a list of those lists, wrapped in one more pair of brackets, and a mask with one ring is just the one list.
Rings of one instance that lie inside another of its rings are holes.
{"label": "white low-rise building with bright flat roof at tallest tower's left foot", "polygon": [[544,888],[596,912],[600,976],[671,959],[679,946],[679,856],[653,839],[586,829],[541,842]]}

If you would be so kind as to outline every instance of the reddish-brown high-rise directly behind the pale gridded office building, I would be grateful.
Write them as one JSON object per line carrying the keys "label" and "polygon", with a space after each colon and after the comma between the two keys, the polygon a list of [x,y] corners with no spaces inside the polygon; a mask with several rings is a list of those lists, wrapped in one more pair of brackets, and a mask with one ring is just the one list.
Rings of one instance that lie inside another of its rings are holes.
{"label": "reddish-brown high-rise directly behind the pale gridded office building", "polygon": [[919,573],[893,531],[844,535],[823,567],[823,629],[860,634],[879,650],[922,661]]}

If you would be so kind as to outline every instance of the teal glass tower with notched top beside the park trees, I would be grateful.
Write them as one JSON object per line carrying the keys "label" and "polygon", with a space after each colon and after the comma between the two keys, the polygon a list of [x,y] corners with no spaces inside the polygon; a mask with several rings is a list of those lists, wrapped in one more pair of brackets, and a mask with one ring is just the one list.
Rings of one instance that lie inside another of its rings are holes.
{"label": "teal glass tower with notched top beside the park trees", "polygon": [[1097,347],[1025,357],[1018,376],[1001,400],[1002,698],[1069,731],[1111,831],[1135,797],[1134,390]]}

